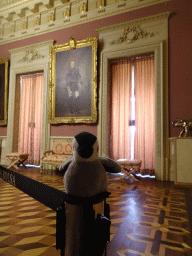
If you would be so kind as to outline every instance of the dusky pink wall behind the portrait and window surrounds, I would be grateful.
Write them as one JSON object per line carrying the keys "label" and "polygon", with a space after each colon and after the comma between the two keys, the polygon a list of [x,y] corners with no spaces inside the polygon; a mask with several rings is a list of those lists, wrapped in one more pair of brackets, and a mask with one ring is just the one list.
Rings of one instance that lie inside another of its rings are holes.
{"label": "dusky pink wall behind the portrait and window surrounds", "polygon": [[[169,127],[170,137],[178,136],[180,129],[171,125],[178,118],[192,118],[192,2],[190,0],[174,0],[152,7],[145,7],[113,17],[92,21],[45,35],[20,40],[0,46],[0,58],[9,57],[8,50],[42,41],[55,40],[56,44],[68,42],[73,36],[81,40],[90,36],[98,36],[97,28],[148,16],[160,12],[171,11],[169,19]],[[81,131],[90,131],[97,135],[97,125],[52,125],[52,136],[73,136]],[[6,127],[0,127],[0,136],[7,134]]]}

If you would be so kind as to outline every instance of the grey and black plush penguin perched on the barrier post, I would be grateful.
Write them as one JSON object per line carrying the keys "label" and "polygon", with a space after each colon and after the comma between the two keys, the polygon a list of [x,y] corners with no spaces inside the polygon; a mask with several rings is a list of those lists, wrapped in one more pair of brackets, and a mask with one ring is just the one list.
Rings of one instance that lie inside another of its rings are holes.
{"label": "grey and black plush penguin perched on the barrier post", "polygon": [[59,168],[64,173],[66,192],[91,197],[107,191],[107,172],[121,172],[121,166],[107,157],[99,157],[97,137],[88,132],[77,134],[73,141],[73,156]]}

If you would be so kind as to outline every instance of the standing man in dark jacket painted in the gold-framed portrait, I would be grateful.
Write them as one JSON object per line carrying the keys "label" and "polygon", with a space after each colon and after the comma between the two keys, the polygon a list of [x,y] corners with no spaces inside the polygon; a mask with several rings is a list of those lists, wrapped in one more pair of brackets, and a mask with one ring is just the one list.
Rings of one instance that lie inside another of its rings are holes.
{"label": "standing man in dark jacket painted in the gold-framed portrait", "polygon": [[71,61],[71,67],[66,76],[67,91],[69,96],[69,111],[72,114],[79,114],[80,102],[80,86],[82,85],[82,77],[79,69],[75,67],[75,62]]}

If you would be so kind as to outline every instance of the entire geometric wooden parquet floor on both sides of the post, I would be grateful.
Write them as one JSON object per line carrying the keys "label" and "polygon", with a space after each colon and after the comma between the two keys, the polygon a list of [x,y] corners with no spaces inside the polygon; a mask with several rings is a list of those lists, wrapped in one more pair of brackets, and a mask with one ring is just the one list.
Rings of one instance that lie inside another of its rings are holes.
{"label": "entire geometric wooden parquet floor on both sides of the post", "polygon": [[[16,170],[14,170],[16,171]],[[57,172],[20,173],[65,191]],[[109,174],[111,241],[107,256],[190,256],[191,191],[172,183]],[[0,255],[57,256],[56,212],[0,179]],[[90,251],[91,256],[91,251]]]}

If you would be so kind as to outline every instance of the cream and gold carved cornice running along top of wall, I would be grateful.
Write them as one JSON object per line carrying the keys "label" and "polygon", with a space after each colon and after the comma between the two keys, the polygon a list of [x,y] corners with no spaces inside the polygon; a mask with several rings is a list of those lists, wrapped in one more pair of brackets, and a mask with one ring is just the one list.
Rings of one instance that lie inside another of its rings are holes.
{"label": "cream and gold carved cornice running along top of wall", "polygon": [[167,0],[1,0],[0,45],[163,2]]}

